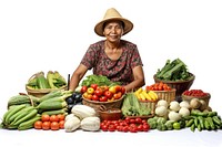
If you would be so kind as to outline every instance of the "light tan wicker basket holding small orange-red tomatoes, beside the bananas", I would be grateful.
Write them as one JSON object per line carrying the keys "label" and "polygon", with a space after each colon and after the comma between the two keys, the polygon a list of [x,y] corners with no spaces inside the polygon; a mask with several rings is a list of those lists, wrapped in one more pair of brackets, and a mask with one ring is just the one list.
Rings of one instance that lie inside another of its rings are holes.
{"label": "light tan wicker basket holding small orange-red tomatoes, beside the bananas", "polygon": [[175,88],[172,88],[171,91],[153,91],[158,94],[159,99],[164,99],[170,104],[172,101],[175,99]]}

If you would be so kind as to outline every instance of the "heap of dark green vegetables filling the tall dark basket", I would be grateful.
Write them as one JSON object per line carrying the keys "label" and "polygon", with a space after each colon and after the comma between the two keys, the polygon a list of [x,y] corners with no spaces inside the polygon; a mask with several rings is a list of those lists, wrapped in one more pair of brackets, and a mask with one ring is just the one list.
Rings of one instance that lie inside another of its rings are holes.
{"label": "heap of dark green vegetables filling the tall dark basket", "polygon": [[186,65],[180,59],[175,59],[172,62],[167,60],[165,65],[158,70],[155,77],[163,81],[186,81],[193,78]]}

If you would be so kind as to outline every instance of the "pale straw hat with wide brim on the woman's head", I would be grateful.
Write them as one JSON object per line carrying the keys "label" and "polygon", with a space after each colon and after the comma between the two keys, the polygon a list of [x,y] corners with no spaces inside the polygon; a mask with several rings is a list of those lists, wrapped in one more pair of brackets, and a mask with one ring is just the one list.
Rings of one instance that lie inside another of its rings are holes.
{"label": "pale straw hat with wide brim on the woman's head", "polygon": [[104,36],[103,24],[110,20],[120,20],[124,23],[123,35],[130,32],[133,28],[133,23],[131,21],[122,18],[122,15],[114,8],[110,8],[107,10],[103,20],[97,23],[97,25],[94,27],[94,32],[100,36]]}

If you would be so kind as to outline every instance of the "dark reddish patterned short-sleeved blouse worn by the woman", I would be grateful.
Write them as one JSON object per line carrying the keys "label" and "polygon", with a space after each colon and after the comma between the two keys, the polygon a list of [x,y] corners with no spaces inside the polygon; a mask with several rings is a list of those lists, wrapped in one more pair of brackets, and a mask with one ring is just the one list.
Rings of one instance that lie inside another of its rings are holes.
{"label": "dark reddish patterned short-sleeved blouse worn by the woman", "polygon": [[85,52],[81,64],[88,70],[93,69],[93,74],[104,75],[113,82],[121,82],[127,85],[133,81],[132,69],[142,64],[135,44],[121,40],[122,54],[113,61],[104,52],[104,40],[91,44]]}

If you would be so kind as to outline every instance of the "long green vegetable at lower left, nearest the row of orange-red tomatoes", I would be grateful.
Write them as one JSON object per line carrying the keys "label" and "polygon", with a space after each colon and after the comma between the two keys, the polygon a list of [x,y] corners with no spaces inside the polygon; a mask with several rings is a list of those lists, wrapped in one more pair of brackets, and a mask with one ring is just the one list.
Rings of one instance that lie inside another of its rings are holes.
{"label": "long green vegetable at lower left, nearest the row of orange-red tomatoes", "polygon": [[21,123],[21,124],[19,125],[18,129],[19,129],[19,130],[30,129],[30,128],[33,127],[34,123],[36,123],[37,120],[39,120],[39,119],[41,119],[41,116],[37,114],[37,115],[33,116],[32,118],[30,118],[30,119],[28,119],[28,120]]}

